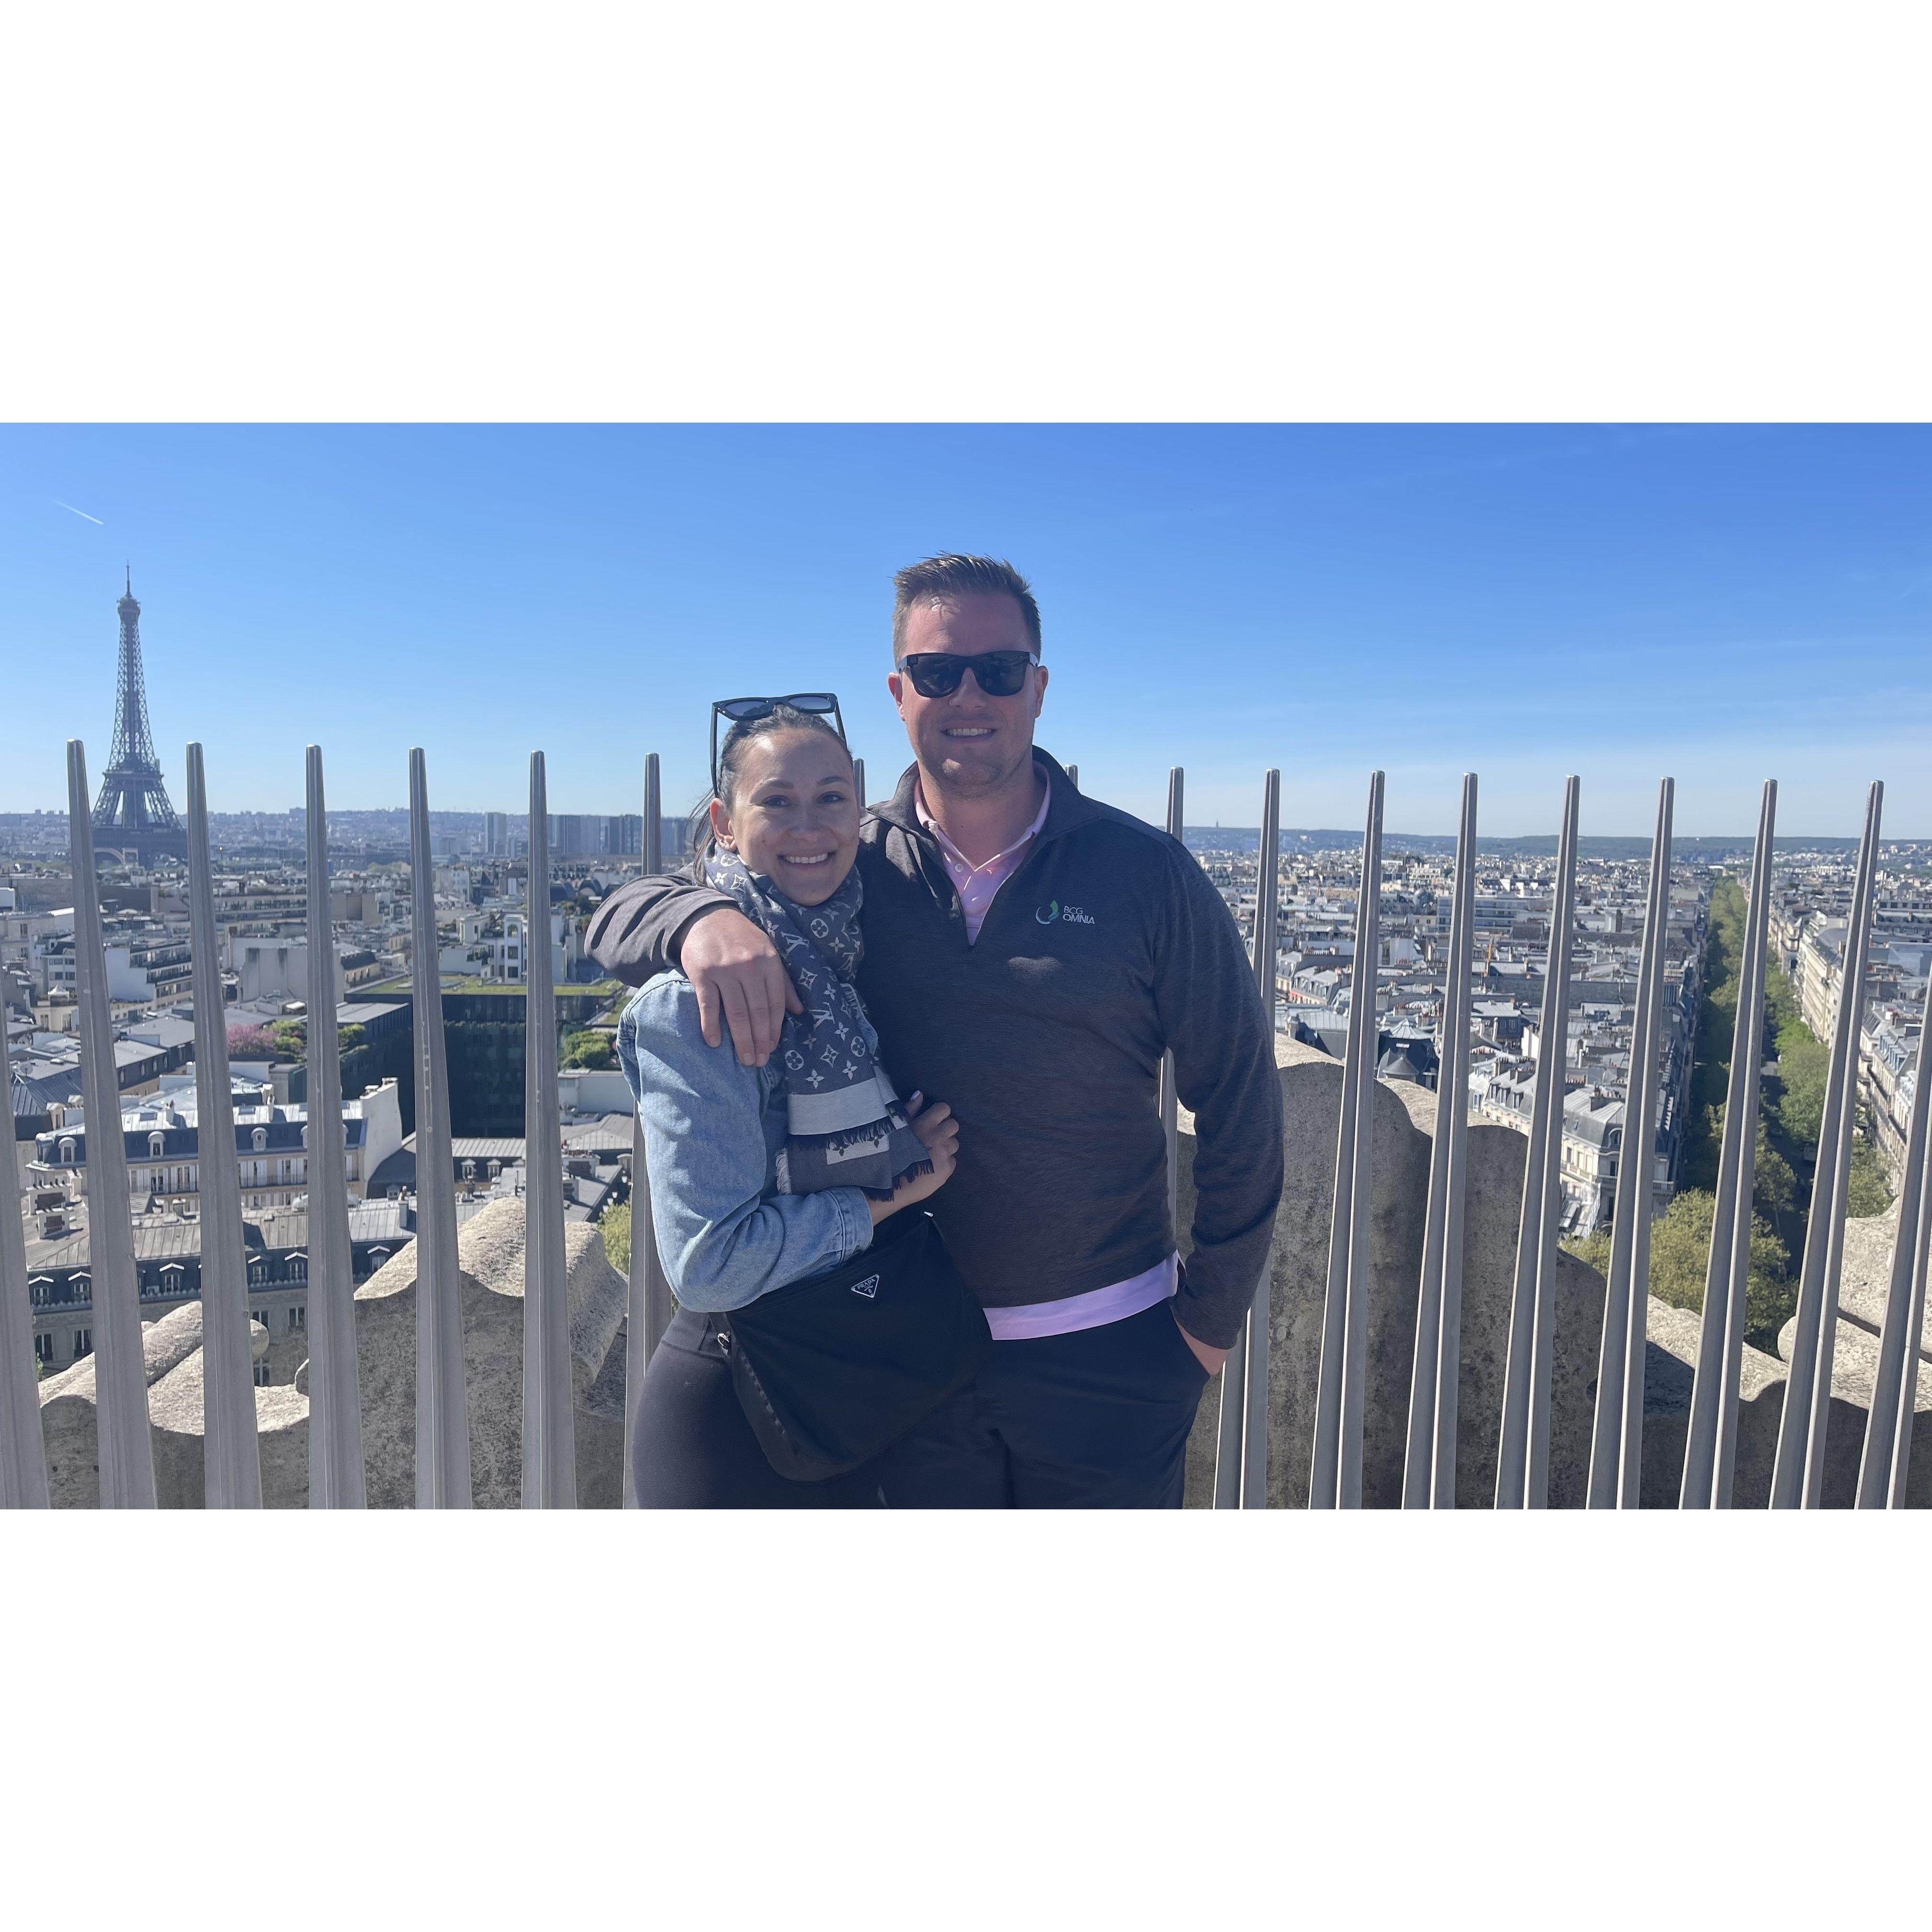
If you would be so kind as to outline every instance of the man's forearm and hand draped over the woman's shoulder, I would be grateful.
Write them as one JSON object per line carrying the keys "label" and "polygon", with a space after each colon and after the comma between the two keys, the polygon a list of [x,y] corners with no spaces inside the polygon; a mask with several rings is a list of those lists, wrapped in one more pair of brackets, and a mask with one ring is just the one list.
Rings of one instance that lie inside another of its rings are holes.
{"label": "man's forearm and hand draped over the woman's shoulder", "polygon": [[779,1045],[786,1010],[804,1012],[779,949],[730,896],[688,873],[620,885],[595,912],[589,954],[607,974],[641,985],[682,968],[697,991],[707,1045],[724,1037],[746,1066],[763,1066]]}

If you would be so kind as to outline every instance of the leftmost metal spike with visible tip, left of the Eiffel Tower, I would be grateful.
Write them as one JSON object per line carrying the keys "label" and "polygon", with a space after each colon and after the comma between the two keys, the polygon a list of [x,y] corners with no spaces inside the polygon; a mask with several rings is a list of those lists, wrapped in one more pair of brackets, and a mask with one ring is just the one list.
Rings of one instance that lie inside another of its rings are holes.
{"label": "leftmost metal spike with visible tip, left of the Eiffel Tower", "polygon": [[73,869],[73,991],[79,999],[81,1105],[87,1115],[87,1258],[95,1291],[95,1416],[100,1430],[100,1507],[155,1507],[155,1439],[147,1420],[141,1291],[128,1211],[128,1144],[120,1124],[120,1076],[108,1018],[87,819],[87,752],[68,740],[68,833]]}

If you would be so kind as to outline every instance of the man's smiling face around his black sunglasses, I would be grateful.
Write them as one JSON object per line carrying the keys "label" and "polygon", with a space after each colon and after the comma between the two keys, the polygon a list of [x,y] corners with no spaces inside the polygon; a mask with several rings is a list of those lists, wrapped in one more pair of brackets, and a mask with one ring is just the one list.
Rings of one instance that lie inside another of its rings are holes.
{"label": "man's smiling face around his black sunglasses", "polygon": [[[1026,614],[1003,591],[974,591],[906,612],[900,657],[945,651],[978,657],[981,651],[1030,651]],[[922,697],[912,678],[895,670],[885,680],[906,721],[906,736],[920,769],[949,792],[995,792],[1034,759],[1034,719],[1047,694],[1045,665],[1034,665],[1012,697],[987,697],[968,672],[951,697]]]}

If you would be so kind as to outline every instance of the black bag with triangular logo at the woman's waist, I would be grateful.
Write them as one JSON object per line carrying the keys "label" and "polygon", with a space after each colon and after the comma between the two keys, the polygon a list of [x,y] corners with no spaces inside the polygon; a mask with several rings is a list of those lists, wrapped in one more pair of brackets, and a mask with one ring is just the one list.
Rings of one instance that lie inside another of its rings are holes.
{"label": "black bag with triangular logo at the woman's waist", "polygon": [[871,1246],[833,1273],[773,1289],[717,1323],[752,1434],[792,1482],[875,1457],[964,1389],[993,1345],[922,1208],[881,1221]]}

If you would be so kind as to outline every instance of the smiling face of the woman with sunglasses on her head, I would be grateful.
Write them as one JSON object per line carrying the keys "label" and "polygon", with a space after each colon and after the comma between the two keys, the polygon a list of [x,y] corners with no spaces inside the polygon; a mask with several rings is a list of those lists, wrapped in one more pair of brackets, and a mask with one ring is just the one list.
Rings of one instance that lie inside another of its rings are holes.
{"label": "smiling face of the woman with sunglasses on her head", "polygon": [[823,730],[775,730],[738,753],[730,811],[711,804],[711,831],[786,898],[821,906],[858,858],[852,759]]}

